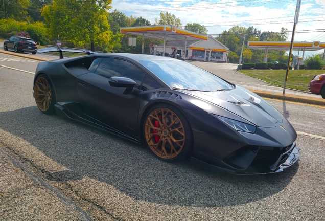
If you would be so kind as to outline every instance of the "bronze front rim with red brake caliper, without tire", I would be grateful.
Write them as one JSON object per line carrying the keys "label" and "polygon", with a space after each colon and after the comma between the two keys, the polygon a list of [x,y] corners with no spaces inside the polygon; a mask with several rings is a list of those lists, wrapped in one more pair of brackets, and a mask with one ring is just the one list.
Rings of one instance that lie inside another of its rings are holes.
{"label": "bronze front rim with red brake caliper, without tire", "polygon": [[173,159],[183,150],[185,129],[180,118],[168,108],[154,109],[145,122],[145,139],[162,159]]}

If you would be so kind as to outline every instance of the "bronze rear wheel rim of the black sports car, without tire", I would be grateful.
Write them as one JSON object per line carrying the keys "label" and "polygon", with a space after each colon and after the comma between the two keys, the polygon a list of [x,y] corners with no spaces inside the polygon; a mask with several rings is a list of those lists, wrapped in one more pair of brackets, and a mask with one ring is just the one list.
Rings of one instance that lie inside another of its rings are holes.
{"label": "bronze rear wheel rim of the black sports car, without tire", "polygon": [[46,112],[51,107],[52,92],[49,81],[44,77],[38,77],[34,84],[34,97],[38,108]]}

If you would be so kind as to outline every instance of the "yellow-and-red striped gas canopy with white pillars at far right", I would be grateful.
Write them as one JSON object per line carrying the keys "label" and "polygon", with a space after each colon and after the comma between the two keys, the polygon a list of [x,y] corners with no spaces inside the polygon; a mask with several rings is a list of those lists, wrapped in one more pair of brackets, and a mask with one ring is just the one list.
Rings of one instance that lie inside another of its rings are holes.
{"label": "yellow-and-red striped gas canopy with white pillars at far right", "polygon": [[[264,60],[263,62],[267,62],[267,54],[268,50],[275,51],[289,51],[290,50],[289,41],[248,41],[247,48],[253,50],[264,50]],[[297,67],[303,64],[305,51],[318,51],[321,49],[325,49],[325,42],[320,41],[310,41],[310,42],[293,42],[292,50],[298,51],[298,63]],[[303,52],[303,55],[299,57],[300,51]]]}

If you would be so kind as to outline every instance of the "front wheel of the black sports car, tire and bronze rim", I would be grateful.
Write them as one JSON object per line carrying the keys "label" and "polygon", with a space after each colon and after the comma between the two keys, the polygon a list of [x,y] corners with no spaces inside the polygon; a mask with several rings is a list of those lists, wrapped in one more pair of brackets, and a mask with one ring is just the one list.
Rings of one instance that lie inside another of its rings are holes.
{"label": "front wheel of the black sports car, tire and bronze rim", "polygon": [[159,104],[150,108],[143,130],[144,142],[160,160],[180,161],[192,151],[191,126],[185,116],[172,105]]}

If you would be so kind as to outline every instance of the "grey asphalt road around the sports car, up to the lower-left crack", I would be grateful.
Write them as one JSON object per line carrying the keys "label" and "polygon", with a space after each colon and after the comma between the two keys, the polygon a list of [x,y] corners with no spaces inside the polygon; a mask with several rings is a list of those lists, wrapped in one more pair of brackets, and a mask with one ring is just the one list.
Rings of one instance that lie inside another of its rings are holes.
{"label": "grey asphalt road around the sports car, up to the lower-left crack", "polygon": [[28,72],[0,67],[0,150],[95,220],[325,220],[322,106],[269,100],[297,130],[300,160],[278,174],[235,176],[165,163],[141,145],[42,114]]}

